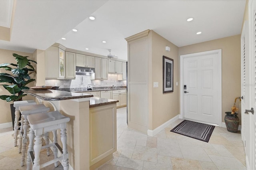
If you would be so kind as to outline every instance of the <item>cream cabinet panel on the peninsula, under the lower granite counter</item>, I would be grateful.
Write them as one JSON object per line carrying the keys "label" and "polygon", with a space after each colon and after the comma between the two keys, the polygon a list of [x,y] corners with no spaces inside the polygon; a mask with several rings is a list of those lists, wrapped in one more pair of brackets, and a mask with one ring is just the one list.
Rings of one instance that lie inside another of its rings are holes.
{"label": "cream cabinet panel on the peninsula, under the lower granite counter", "polygon": [[92,107],[89,112],[90,169],[95,169],[116,151],[116,104]]}

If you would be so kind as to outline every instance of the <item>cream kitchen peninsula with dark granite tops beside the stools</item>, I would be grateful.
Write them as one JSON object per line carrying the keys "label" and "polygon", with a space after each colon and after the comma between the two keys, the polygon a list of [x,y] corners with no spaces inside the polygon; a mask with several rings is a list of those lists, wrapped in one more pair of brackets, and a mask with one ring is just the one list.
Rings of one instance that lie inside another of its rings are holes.
{"label": "cream kitchen peninsula with dark granite tops beside the stools", "polygon": [[[67,123],[69,164],[76,170],[96,169],[116,151],[116,102],[87,93],[23,90],[53,104]],[[71,168],[70,167],[70,168]]]}

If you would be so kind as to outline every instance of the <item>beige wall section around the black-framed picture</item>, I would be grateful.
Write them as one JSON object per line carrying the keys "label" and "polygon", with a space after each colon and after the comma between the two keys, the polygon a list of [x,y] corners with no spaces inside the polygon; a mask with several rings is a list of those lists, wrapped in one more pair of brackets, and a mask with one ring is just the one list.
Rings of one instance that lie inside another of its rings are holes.
{"label": "beige wall section around the black-framed picture", "polygon": [[[152,30],[150,30],[149,38],[152,39],[152,56],[150,56],[152,70],[149,72],[148,82],[149,96],[152,96],[150,105],[152,106],[150,108],[152,109],[152,126],[149,126],[149,129],[153,130],[179,114],[179,93],[178,86],[176,86],[179,80],[178,47]],[[166,51],[166,46],[169,46],[171,50]],[[172,93],[163,94],[163,55],[174,60],[174,92]],[[158,82],[158,88],[153,87],[153,82]]]}

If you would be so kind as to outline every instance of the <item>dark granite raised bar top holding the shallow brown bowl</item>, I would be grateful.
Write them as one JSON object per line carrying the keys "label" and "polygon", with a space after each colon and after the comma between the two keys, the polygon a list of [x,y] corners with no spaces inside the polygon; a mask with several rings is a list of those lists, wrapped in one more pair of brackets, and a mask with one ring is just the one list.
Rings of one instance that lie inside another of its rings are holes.
{"label": "dark granite raised bar top holding the shallow brown bowl", "polygon": [[57,101],[57,100],[69,100],[69,99],[81,99],[87,97],[93,97],[86,93],[73,93],[69,91],[58,91],[58,90],[22,90],[28,95],[38,97],[45,101]]}

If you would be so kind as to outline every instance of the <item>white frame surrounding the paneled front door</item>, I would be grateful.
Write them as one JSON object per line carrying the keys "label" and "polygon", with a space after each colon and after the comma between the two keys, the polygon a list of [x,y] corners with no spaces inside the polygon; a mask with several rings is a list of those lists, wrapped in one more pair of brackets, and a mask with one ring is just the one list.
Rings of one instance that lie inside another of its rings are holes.
{"label": "white frame surrounding the paneled front door", "polygon": [[[218,113],[219,113],[219,118],[218,118],[218,125],[217,126],[222,126],[222,49],[215,49],[211,51],[203,51],[199,53],[191,53],[191,54],[185,54],[185,55],[180,55],[180,119],[184,119],[184,82],[183,82],[183,77],[184,77],[184,58],[187,57],[195,57],[199,55],[206,55],[206,54],[218,54],[218,62],[219,64],[219,76],[218,76],[218,81],[220,82],[219,85],[219,91],[218,91]],[[199,123],[203,123],[198,121]],[[209,123],[211,124],[211,123]],[[216,126],[216,124],[212,124]]]}

